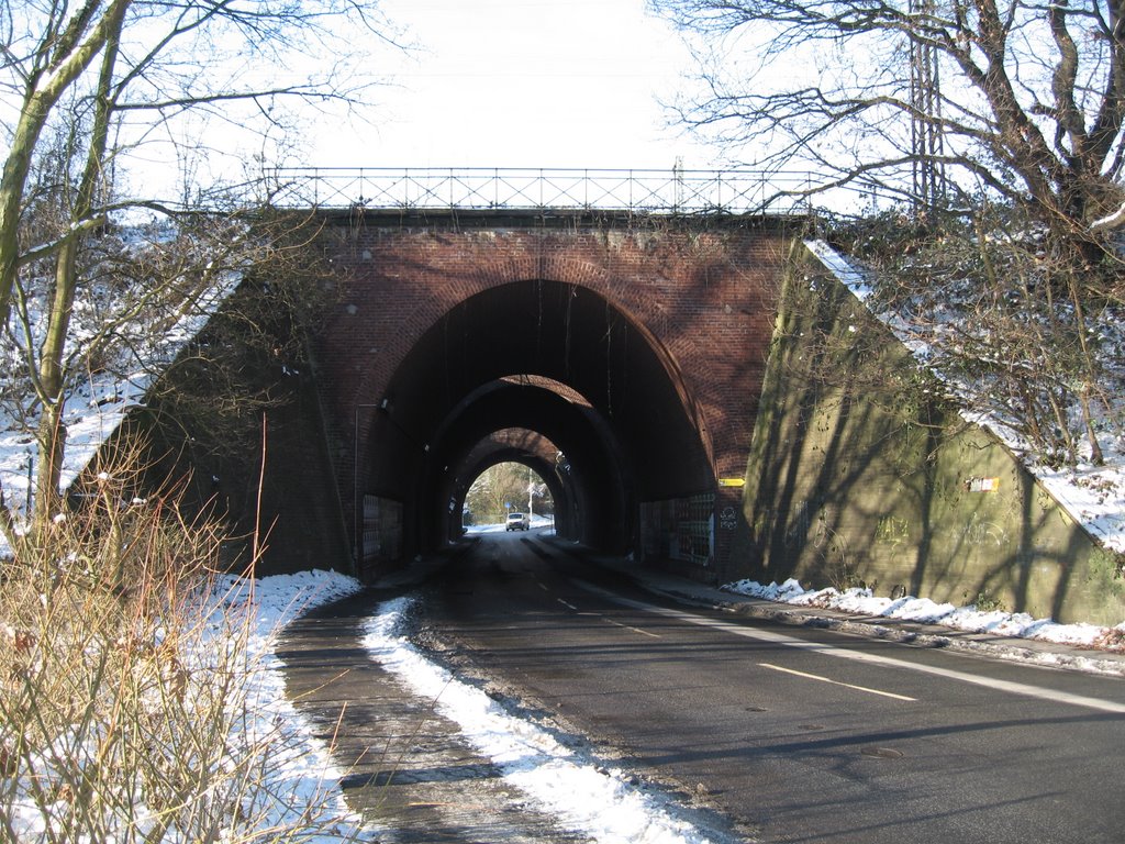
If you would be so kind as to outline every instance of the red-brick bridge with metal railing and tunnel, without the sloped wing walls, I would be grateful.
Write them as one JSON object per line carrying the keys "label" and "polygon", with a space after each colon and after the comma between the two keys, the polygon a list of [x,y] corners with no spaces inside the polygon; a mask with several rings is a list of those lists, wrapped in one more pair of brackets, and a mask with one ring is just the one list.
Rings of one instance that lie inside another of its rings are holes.
{"label": "red-brick bridge with metal railing and tunnel, without the sloped wing walls", "polygon": [[564,536],[727,566],[800,209],[762,213],[737,173],[279,179],[335,268],[313,352],[361,574],[458,536],[469,485],[508,460]]}

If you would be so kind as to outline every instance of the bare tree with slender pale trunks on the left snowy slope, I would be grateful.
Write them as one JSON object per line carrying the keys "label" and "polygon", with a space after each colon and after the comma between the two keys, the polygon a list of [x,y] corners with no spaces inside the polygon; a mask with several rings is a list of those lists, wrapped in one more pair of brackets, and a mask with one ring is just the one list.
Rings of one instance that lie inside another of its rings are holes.
{"label": "bare tree with slender pale trunks on the left snowy slope", "polygon": [[[17,0],[0,18],[0,99],[15,115],[0,177],[0,329],[35,397],[24,408],[38,442],[34,523],[56,506],[75,374],[96,368],[140,313],[182,316],[262,251],[248,210],[266,201],[264,182],[216,188],[208,137],[273,149],[289,128],[281,104],[359,102],[368,82],[342,45],[356,32],[385,37],[374,10],[352,0]],[[158,240],[107,235],[141,209],[165,221]],[[200,216],[210,221],[202,236]],[[75,308],[109,288],[126,294],[114,313],[76,330]],[[2,486],[0,511],[14,536]]]}

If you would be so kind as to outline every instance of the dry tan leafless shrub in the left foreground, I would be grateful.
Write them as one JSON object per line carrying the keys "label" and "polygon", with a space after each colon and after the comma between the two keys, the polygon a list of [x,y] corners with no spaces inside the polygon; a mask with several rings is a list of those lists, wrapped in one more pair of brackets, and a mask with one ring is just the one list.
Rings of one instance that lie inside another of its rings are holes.
{"label": "dry tan leafless shrub in the left foreground", "polygon": [[0,569],[0,839],[323,839],[331,794],[279,793],[245,602],[215,523],[105,467]]}

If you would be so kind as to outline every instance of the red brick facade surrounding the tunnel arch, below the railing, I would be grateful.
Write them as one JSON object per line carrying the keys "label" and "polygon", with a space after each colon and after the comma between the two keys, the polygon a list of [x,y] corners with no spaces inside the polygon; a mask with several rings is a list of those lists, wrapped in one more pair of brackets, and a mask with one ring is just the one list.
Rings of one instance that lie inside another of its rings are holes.
{"label": "red brick facade surrounding the tunnel arch, below the railing", "polygon": [[[600,294],[663,349],[681,374],[686,412],[702,421],[716,476],[741,477],[792,236],[777,221],[718,217],[338,219],[322,237],[341,289],[316,357],[339,459],[350,464],[351,445],[366,440],[362,405],[379,401],[447,311],[497,285],[542,279]],[[340,476],[350,477],[346,465]]]}

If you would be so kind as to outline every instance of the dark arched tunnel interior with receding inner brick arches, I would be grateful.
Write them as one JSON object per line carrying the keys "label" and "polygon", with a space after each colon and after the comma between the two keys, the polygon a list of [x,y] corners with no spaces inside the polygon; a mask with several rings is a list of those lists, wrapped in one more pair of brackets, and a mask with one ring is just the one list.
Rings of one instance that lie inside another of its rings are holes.
{"label": "dark arched tunnel interior with receding inner brick arches", "polygon": [[[357,487],[400,505],[405,556],[459,532],[467,485],[501,452],[558,483],[560,532],[611,553],[636,544],[639,502],[714,485],[705,431],[670,356],[575,284],[528,279],[469,296],[367,399]],[[506,429],[552,443],[565,476],[542,449],[483,449]]]}

